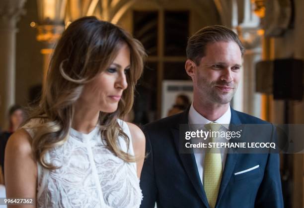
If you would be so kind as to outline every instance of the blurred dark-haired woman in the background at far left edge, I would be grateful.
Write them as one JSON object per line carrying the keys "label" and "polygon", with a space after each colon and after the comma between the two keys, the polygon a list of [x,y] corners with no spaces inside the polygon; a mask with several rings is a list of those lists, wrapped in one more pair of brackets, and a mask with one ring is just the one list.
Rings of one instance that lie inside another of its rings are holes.
{"label": "blurred dark-haired woman in the background at far left edge", "polygon": [[18,105],[12,105],[8,110],[8,130],[4,131],[0,135],[0,165],[2,173],[4,173],[4,150],[8,138],[14,133],[24,121],[24,110]]}

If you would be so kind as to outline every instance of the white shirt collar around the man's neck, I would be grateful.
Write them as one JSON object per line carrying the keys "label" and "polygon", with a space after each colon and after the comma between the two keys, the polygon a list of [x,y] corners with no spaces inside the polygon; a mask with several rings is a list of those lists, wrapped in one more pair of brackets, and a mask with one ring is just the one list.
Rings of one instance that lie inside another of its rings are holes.
{"label": "white shirt collar around the man's neck", "polygon": [[[231,109],[230,105],[228,105],[227,111],[216,121],[220,124],[229,124],[231,119]],[[191,107],[189,109],[189,115],[188,115],[189,124],[207,124],[211,121],[202,116],[196,109],[193,107],[193,103],[191,104]]]}

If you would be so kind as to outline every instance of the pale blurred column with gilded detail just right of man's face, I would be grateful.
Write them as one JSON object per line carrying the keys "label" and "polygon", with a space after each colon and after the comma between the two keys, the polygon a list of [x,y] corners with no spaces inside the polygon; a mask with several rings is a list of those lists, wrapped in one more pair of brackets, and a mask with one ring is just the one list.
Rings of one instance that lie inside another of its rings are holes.
{"label": "pale blurred column with gilded detail just right of man's face", "polygon": [[[261,96],[255,92],[255,64],[261,59],[262,53],[262,34],[259,31],[260,20],[253,12],[253,5],[250,0],[234,0],[234,5],[236,8],[233,7],[233,13],[237,13],[237,15],[233,16],[232,25],[236,27],[239,39],[246,52],[243,54],[242,80],[233,97],[233,108],[260,117]],[[235,25],[235,22],[237,22],[237,25]]]}

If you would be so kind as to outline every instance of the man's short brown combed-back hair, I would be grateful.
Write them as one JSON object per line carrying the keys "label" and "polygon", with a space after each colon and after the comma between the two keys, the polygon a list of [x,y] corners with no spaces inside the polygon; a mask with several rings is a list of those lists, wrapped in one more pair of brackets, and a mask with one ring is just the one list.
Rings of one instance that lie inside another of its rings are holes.
{"label": "man's short brown combed-back hair", "polygon": [[186,49],[187,59],[193,60],[196,65],[199,65],[201,58],[206,55],[207,44],[221,41],[233,41],[238,45],[242,55],[245,52],[238,36],[232,30],[221,25],[214,25],[200,29],[189,38]]}

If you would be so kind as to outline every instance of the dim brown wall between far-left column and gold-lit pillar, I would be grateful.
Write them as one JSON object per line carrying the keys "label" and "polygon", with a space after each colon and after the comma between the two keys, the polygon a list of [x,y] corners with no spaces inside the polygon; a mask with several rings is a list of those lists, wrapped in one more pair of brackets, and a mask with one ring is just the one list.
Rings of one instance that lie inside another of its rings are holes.
{"label": "dim brown wall between far-left column and gold-lit pillar", "polygon": [[26,14],[22,15],[16,35],[16,103],[27,105],[30,87],[41,84],[43,77],[42,43],[36,40],[37,29],[30,27],[37,22],[36,0],[27,0]]}

